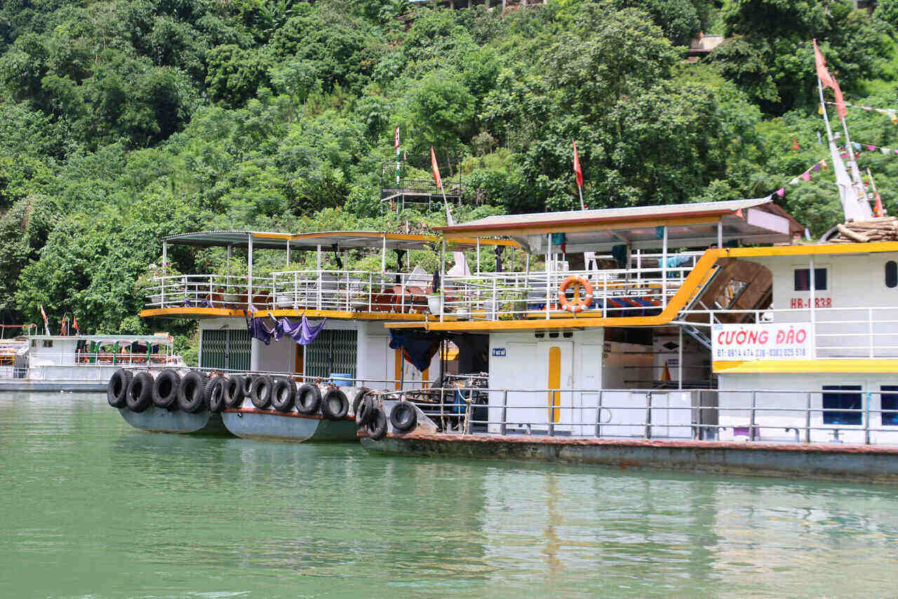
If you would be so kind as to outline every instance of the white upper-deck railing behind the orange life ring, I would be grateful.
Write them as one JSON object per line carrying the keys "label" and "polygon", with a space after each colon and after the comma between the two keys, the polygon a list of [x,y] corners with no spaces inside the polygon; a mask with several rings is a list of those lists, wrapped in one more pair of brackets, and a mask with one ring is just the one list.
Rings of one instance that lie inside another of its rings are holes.
{"label": "white upper-deck railing behind the orange life ring", "polygon": [[643,316],[660,313],[698,260],[683,256],[677,266],[648,262],[633,269],[556,270],[481,273],[445,277],[444,312],[489,321],[549,317],[561,313],[559,287],[570,276],[585,277],[593,287],[587,314]]}

